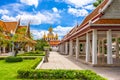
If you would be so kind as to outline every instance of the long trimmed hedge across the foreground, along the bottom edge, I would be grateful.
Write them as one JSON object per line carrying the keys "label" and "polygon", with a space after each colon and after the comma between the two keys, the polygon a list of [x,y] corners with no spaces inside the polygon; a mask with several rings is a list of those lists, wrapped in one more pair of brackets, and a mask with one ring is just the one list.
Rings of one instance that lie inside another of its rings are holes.
{"label": "long trimmed hedge across the foreground, along the bottom edge", "polygon": [[107,80],[91,70],[28,70],[18,71],[20,78],[27,79],[79,79],[79,80]]}

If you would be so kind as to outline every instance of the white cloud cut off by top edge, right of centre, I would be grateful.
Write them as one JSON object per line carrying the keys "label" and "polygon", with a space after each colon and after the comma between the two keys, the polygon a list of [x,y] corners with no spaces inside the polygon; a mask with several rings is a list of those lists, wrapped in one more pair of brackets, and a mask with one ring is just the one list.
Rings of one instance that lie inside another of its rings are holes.
{"label": "white cloud cut off by top edge, right of centre", "polygon": [[95,2],[96,0],[64,0],[67,4],[73,5],[75,7],[82,7],[90,3]]}

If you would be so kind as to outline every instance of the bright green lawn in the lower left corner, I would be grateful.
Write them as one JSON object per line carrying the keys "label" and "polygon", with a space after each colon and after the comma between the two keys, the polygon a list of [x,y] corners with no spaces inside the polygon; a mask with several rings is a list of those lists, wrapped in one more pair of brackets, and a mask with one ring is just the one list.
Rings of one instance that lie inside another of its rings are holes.
{"label": "bright green lawn in the lower left corner", "polygon": [[5,60],[0,60],[0,80],[16,80],[17,70],[32,64],[33,60],[24,60],[17,63],[7,63]]}

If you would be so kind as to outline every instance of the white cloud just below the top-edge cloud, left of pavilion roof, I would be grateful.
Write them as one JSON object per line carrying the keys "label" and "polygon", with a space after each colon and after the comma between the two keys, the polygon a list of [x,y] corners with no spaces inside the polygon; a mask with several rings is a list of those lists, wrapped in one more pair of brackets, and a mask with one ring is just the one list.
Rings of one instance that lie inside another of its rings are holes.
{"label": "white cloud just below the top-edge cloud, left of pavilion roof", "polygon": [[88,11],[85,9],[76,9],[76,8],[71,8],[71,7],[68,8],[68,13],[76,17],[88,15]]}

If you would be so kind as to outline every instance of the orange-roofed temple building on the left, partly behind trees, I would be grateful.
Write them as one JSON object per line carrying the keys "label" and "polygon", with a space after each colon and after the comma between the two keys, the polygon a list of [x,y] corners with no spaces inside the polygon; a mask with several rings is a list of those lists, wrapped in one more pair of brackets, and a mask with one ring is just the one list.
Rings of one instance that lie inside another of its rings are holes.
{"label": "orange-roofed temple building on the left, partly behind trees", "polygon": [[30,35],[30,23],[20,25],[18,21],[0,20],[0,54],[14,53],[15,49],[20,52],[35,50],[36,41]]}

